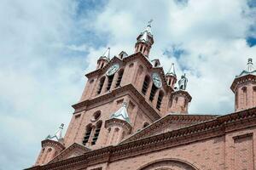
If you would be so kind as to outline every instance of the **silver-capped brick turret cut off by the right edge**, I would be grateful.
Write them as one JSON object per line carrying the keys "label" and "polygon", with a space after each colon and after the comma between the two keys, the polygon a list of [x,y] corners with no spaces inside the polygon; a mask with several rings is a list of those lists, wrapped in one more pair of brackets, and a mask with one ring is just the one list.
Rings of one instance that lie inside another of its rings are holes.
{"label": "silver-capped brick turret cut off by the right edge", "polygon": [[235,111],[256,106],[256,70],[253,68],[253,59],[248,59],[247,68],[236,76],[230,88],[235,94]]}

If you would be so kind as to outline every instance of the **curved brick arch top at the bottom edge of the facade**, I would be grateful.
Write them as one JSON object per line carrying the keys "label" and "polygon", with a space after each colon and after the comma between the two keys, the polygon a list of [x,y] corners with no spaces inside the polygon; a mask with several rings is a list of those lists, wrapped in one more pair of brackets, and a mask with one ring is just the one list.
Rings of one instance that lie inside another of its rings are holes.
{"label": "curved brick arch top at the bottom edge of the facade", "polygon": [[152,161],[137,170],[199,170],[195,165],[181,159]]}

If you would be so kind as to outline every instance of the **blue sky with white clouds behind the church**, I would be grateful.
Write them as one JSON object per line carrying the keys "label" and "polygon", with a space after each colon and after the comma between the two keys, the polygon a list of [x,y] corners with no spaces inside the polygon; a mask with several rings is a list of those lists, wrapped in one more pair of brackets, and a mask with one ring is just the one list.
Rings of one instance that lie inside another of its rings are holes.
{"label": "blue sky with white clouds behind the church", "polygon": [[0,170],[31,167],[73,114],[84,74],[110,47],[133,54],[153,19],[150,59],[189,79],[189,114],[234,111],[230,85],[256,61],[256,0],[0,0]]}

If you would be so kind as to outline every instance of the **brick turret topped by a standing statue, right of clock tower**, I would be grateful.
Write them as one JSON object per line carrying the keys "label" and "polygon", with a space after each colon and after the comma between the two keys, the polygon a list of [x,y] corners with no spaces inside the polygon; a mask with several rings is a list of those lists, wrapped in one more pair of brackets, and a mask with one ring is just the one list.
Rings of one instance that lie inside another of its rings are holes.
{"label": "brick turret topped by a standing statue, right of clock tower", "polygon": [[172,113],[188,114],[189,102],[192,97],[186,91],[188,79],[185,74],[178,81],[178,89],[172,92],[170,111]]}

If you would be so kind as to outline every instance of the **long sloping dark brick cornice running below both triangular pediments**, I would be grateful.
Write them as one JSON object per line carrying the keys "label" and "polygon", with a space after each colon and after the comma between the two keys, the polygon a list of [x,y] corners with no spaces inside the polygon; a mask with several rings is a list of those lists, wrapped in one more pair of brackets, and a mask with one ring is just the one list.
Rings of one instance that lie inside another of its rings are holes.
{"label": "long sloping dark brick cornice running below both triangular pediments", "polygon": [[[236,127],[238,124],[240,126]],[[177,145],[189,144],[202,139],[221,137],[230,131],[247,127],[256,127],[256,108],[231,113],[225,116],[218,116],[211,121],[201,122],[189,127],[183,127],[167,133],[160,133],[125,144],[92,150],[84,153],[83,156],[77,156],[64,161],[28,169],[64,169],[64,167],[72,167],[75,165],[94,165],[101,162],[116,161],[124,159],[125,157],[137,156]]]}

